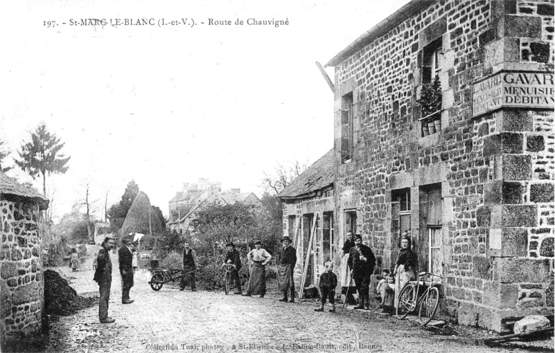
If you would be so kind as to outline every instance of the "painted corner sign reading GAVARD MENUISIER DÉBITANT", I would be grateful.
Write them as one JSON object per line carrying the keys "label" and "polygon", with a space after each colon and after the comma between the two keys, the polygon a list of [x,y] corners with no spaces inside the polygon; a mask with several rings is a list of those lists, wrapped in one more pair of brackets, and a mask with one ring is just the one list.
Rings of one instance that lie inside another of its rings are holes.
{"label": "painted corner sign reading GAVARD MENUISIER D\u00c9BITANT", "polygon": [[554,108],[553,73],[502,72],[473,86],[472,116],[501,107]]}

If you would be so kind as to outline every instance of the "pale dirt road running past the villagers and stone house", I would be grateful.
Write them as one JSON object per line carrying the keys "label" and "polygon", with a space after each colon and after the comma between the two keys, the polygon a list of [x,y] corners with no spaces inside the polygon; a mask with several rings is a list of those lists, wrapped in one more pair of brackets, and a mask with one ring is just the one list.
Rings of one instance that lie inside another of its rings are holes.
{"label": "pale dirt road running past the villagers and stone house", "polygon": [[[85,280],[91,281],[91,270],[68,275],[78,291],[98,289]],[[279,302],[272,290],[267,298],[179,291],[170,284],[153,291],[148,271],[135,275],[135,302],[122,305],[119,280],[114,266],[109,315],[115,323],[98,323],[98,307],[60,317],[46,352],[509,352],[475,345],[471,337],[436,335],[378,311],[315,312],[315,302]]]}

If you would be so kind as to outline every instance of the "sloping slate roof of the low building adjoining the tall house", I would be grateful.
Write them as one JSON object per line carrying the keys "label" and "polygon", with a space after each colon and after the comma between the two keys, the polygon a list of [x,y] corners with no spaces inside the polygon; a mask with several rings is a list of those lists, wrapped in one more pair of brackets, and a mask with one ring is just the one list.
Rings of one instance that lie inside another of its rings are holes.
{"label": "sloping slate roof of the low building adjoining the tall house", "polygon": [[297,199],[309,197],[317,190],[333,185],[333,149],[310,165],[297,179],[287,185],[276,197]]}

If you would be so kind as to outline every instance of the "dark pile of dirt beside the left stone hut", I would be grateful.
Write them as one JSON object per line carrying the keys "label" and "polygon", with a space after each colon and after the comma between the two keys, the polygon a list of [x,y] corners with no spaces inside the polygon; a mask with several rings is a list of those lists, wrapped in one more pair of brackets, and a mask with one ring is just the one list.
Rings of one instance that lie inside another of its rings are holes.
{"label": "dark pile of dirt beside the left stone hut", "polygon": [[44,271],[44,307],[48,315],[71,315],[79,309],[98,304],[98,298],[78,296],[56,271]]}

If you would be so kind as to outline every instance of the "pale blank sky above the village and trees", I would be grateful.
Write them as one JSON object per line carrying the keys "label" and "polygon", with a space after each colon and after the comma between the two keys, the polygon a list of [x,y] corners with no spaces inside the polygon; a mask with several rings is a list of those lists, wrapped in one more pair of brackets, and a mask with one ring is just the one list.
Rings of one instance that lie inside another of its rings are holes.
{"label": "pale blank sky above the village and trees", "polygon": [[[333,147],[333,93],[315,62],[407,2],[4,1],[0,140],[11,155],[2,166],[42,192],[12,158],[44,122],[71,156],[65,174],[46,178],[55,221],[87,183],[99,218],[132,179],[166,216],[182,184],[199,178],[261,197],[265,172],[310,165]],[[108,24],[71,25],[81,19]]]}

